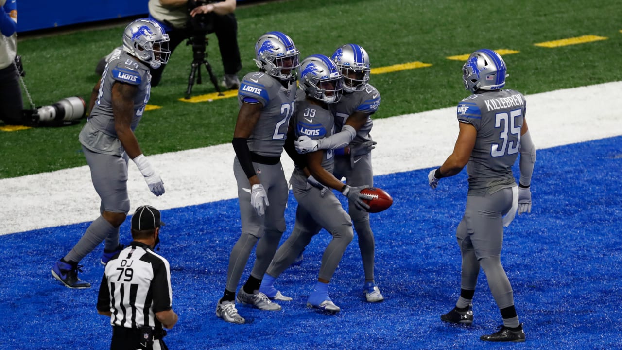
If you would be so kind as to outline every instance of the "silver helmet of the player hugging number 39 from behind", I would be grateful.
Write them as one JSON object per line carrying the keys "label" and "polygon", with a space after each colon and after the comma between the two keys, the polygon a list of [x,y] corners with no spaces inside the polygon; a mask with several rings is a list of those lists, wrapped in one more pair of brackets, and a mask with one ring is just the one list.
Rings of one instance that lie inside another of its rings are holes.
{"label": "silver helmet of the player hugging number 39 from behind", "polygon": [[343,89],[346,92],[361,91],[369,82],[369,55],[356,44],[338,47],[333,53],[333,62],[343,74]]}

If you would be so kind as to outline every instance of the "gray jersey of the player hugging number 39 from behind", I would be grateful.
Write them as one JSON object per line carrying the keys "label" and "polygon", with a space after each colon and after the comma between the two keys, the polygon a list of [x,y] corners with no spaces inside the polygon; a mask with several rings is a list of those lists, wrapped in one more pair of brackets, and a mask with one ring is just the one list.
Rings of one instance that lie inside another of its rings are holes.
{"label": "gray jersey of the player hugging number 39 from behind", "polygon": [[[373,85],[367,84],[361,91],[355,91],[351,93],[343,93],[339,102],[331,106],[333,113],[335,113],[335,130],[341,131],[341,128],[345,124],[348,117],[354,112],[369,113],[370,115],[378,110],[380,105],[380,93]],[[365,141],[370,141],[371,136],[369,132],[374,126],[374,122],[370,118],[367,118],[367,123],[363,125],[361,130],[356,133],[354,140],[351,144],[360,144]]]}

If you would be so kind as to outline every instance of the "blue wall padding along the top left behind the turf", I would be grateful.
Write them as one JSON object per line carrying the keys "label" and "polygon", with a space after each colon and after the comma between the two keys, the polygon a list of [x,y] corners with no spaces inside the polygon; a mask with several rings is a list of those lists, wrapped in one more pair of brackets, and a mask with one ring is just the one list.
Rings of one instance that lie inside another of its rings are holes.
{"label": "blue wall padding along the top left behind the turf", "polygon": [[147,2],[148,0],[18,0],[17,32],[146,15],[149,12]]}

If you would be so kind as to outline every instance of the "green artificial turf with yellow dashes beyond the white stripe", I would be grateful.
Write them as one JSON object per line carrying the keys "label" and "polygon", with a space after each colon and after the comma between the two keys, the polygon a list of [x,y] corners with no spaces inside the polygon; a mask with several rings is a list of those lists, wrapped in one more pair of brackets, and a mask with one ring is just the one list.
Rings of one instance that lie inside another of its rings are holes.
{"label": "green artificial turf with yellow dashes beyond the white stripe", "polygon": [[[483,47],[511,49],[508,88],[527,95],[622,80],[622,2],[584,1],[463,1],[463,0],[289,0],[238,6],[238,42],[243,61],[240,77],[256,70],[254,43],[267,31],[290,35],[302,57],[332,54],[339,45],[355,42],[371,57],[372,67],[420,61],[431,67],[374,74],[371,83],[382,95],[374,118],[455,105],[468,93],[462,87],[461,61],[453,55]],[[128,21],[129,22],[129,21]],[[121,44],[124,25],[70,34],[21,39],[19,54],[26,84],[37,106],[61,98],[83,97],[87,103],[98,80],[98,60]],[[533,44],[582,35],[607,40],[564,47]],[[215,74],[223,69],[215,35],[208,35],[208,60]],[[213,102],[180,102],[188,84],[192,50],[180,45],[152,89],[150,105],[136,130],[145,154],[228,143],[238,111],[236,98]],[[202,69],[203,83],[193,96],[215,92]],[[26,105],[28,102],[24,96]],[[560,106],[563,108],[563,106]],[[453,115],[448,115],[453,118]],[[0,178],[42,173],[85,165],[80,125],[0,131]],[[0,122],[1,125],[1,122]],[[407,126],[417,128],[417,125]]]}

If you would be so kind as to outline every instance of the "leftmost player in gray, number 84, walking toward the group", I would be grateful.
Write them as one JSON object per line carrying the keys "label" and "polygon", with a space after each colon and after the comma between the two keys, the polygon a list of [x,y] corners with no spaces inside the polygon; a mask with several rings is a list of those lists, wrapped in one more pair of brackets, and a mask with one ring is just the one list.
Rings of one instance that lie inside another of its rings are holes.
{"label": "leftmost player in gray, number 84, walking toward the group", "polygon": [[80,260],[104,240],[101,263],[106,265],[123,248],[119,226],[129,211],[128,160],[132,159],[156,196],[164,194],[164,184],[152,168],[134,135],[149,101],[149,67],[169,59],[169,37],[149,19],[131,22],[123,32],[123,46],[114,50],[91,94],[90,116],[80,131],[86,163],[95,191],[101,198],[101,215],[85,234],[52,268],[52,275],[69,288],[89,288],[78,278]]}

